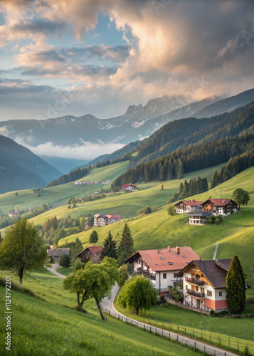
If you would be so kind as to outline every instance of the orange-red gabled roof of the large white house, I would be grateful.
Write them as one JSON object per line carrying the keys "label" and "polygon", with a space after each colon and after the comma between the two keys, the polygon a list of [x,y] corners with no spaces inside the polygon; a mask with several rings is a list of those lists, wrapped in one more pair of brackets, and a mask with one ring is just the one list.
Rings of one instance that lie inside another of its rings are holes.
{"label": "orange-red gabled roof of the large white house", "polygon": [[154,272],[179,271],[186,266],[186,263],[191,262],[193,259],[199,258],[199,256],[189,246],[179,247],[179,249],[179,254],[176,253],[176,247],[171,247],[169,251],[167,248],[137,251],[132,256],[127,258],[125,263],[132,263],[137,260],[137,258],[142,257]]}

